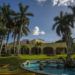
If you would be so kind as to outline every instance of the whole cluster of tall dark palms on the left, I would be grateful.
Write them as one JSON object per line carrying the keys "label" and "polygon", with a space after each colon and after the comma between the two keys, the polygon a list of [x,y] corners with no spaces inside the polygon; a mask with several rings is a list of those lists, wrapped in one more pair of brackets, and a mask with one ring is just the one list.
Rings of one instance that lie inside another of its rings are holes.
{"label": "whole cluster of tall dark palms on the left", "polygon": [[12,34],[14,38],[13,48],[15,50],[15,41],[17,39],[17,47],[19,53],[20,39],[24,35],[28,35],[30,32],[28,26],[30,24],[30,16],[33,16],[32,13],[28,12],[28,5],[23,5],[19,3],[19,11],[16,12],[11,8],[9,4],[0,5],[0,39],[1,39],[1,48],[0,55],[3,46],[3,42],[6,41],[6,53],[7,53],[7,44],[9,36]]}

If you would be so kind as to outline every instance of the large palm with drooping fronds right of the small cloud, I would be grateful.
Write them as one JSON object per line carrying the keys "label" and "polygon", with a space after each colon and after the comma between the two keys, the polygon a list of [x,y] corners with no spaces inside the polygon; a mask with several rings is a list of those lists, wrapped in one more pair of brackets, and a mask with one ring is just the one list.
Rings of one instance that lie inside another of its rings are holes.
{"label": "large palm with drooping fronds right of the small cloud", "polygon": [[74,28],[73,24],[73,17],[71,14],[63,14],[63,12],[60,12],[60,16],[56,16],[54,18],[55,24],[53,25],[53,30],[56,29],[56,33],[59,36],[62,36],[65,38],[67,48],[68,48],[68,54],[71,50],[71,28]]}

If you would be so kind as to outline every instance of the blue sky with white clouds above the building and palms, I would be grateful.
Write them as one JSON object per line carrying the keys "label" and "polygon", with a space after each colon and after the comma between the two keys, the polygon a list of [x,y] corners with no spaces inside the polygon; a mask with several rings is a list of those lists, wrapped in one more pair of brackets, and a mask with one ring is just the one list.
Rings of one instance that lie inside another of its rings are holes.
{"label": "blue sky with white clouds above the building and palms", "polygon": [[[30,17],[29,29],[31,33],[28,36],[23,36],[21,40],[43,39],[46,42],[55,42],[61,37],[56,34],[55,30],[52,30],[53,18],[59,15],[60,11],[70,12],[67,5],[74,3],[74,0],[0,0],[0,5],[4,2],[9,3],[15,11],[19,11],[18,4],[20,2],[29,5],[28,12],[34,14],[34,17]],[[75,37],[74,29],[72,33],[72,36]],[[9,42],[11,41],[12,38],[9,39]]]}

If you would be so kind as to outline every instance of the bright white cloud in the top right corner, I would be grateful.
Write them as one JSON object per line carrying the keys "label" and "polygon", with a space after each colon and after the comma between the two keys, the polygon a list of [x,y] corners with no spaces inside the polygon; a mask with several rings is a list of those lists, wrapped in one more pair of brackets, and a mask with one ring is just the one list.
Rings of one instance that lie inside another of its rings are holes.
{"label": "bright white cloud in the top right corner", "polygon": [[53,2],[53,5],[58,5],[58,6],[61,6],[61,5],[64,5],[64,6],[68,6],[70,4],[74,4],[75,0],[52,0]]}

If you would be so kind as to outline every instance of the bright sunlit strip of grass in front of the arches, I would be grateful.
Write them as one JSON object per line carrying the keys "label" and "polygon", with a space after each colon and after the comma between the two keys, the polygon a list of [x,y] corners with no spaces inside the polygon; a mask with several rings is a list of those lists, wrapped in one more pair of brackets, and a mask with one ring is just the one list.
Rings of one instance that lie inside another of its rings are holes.
{"label": "bright sunlit strip of grass in front of the arches", "polygon": [[22,60],[43,60],[43,59],[57,59],[59,57],[66,57],[66,54],[62,55],[53,55],[53,56],[48,56],[48,55],[19,55],[19,58]]}

